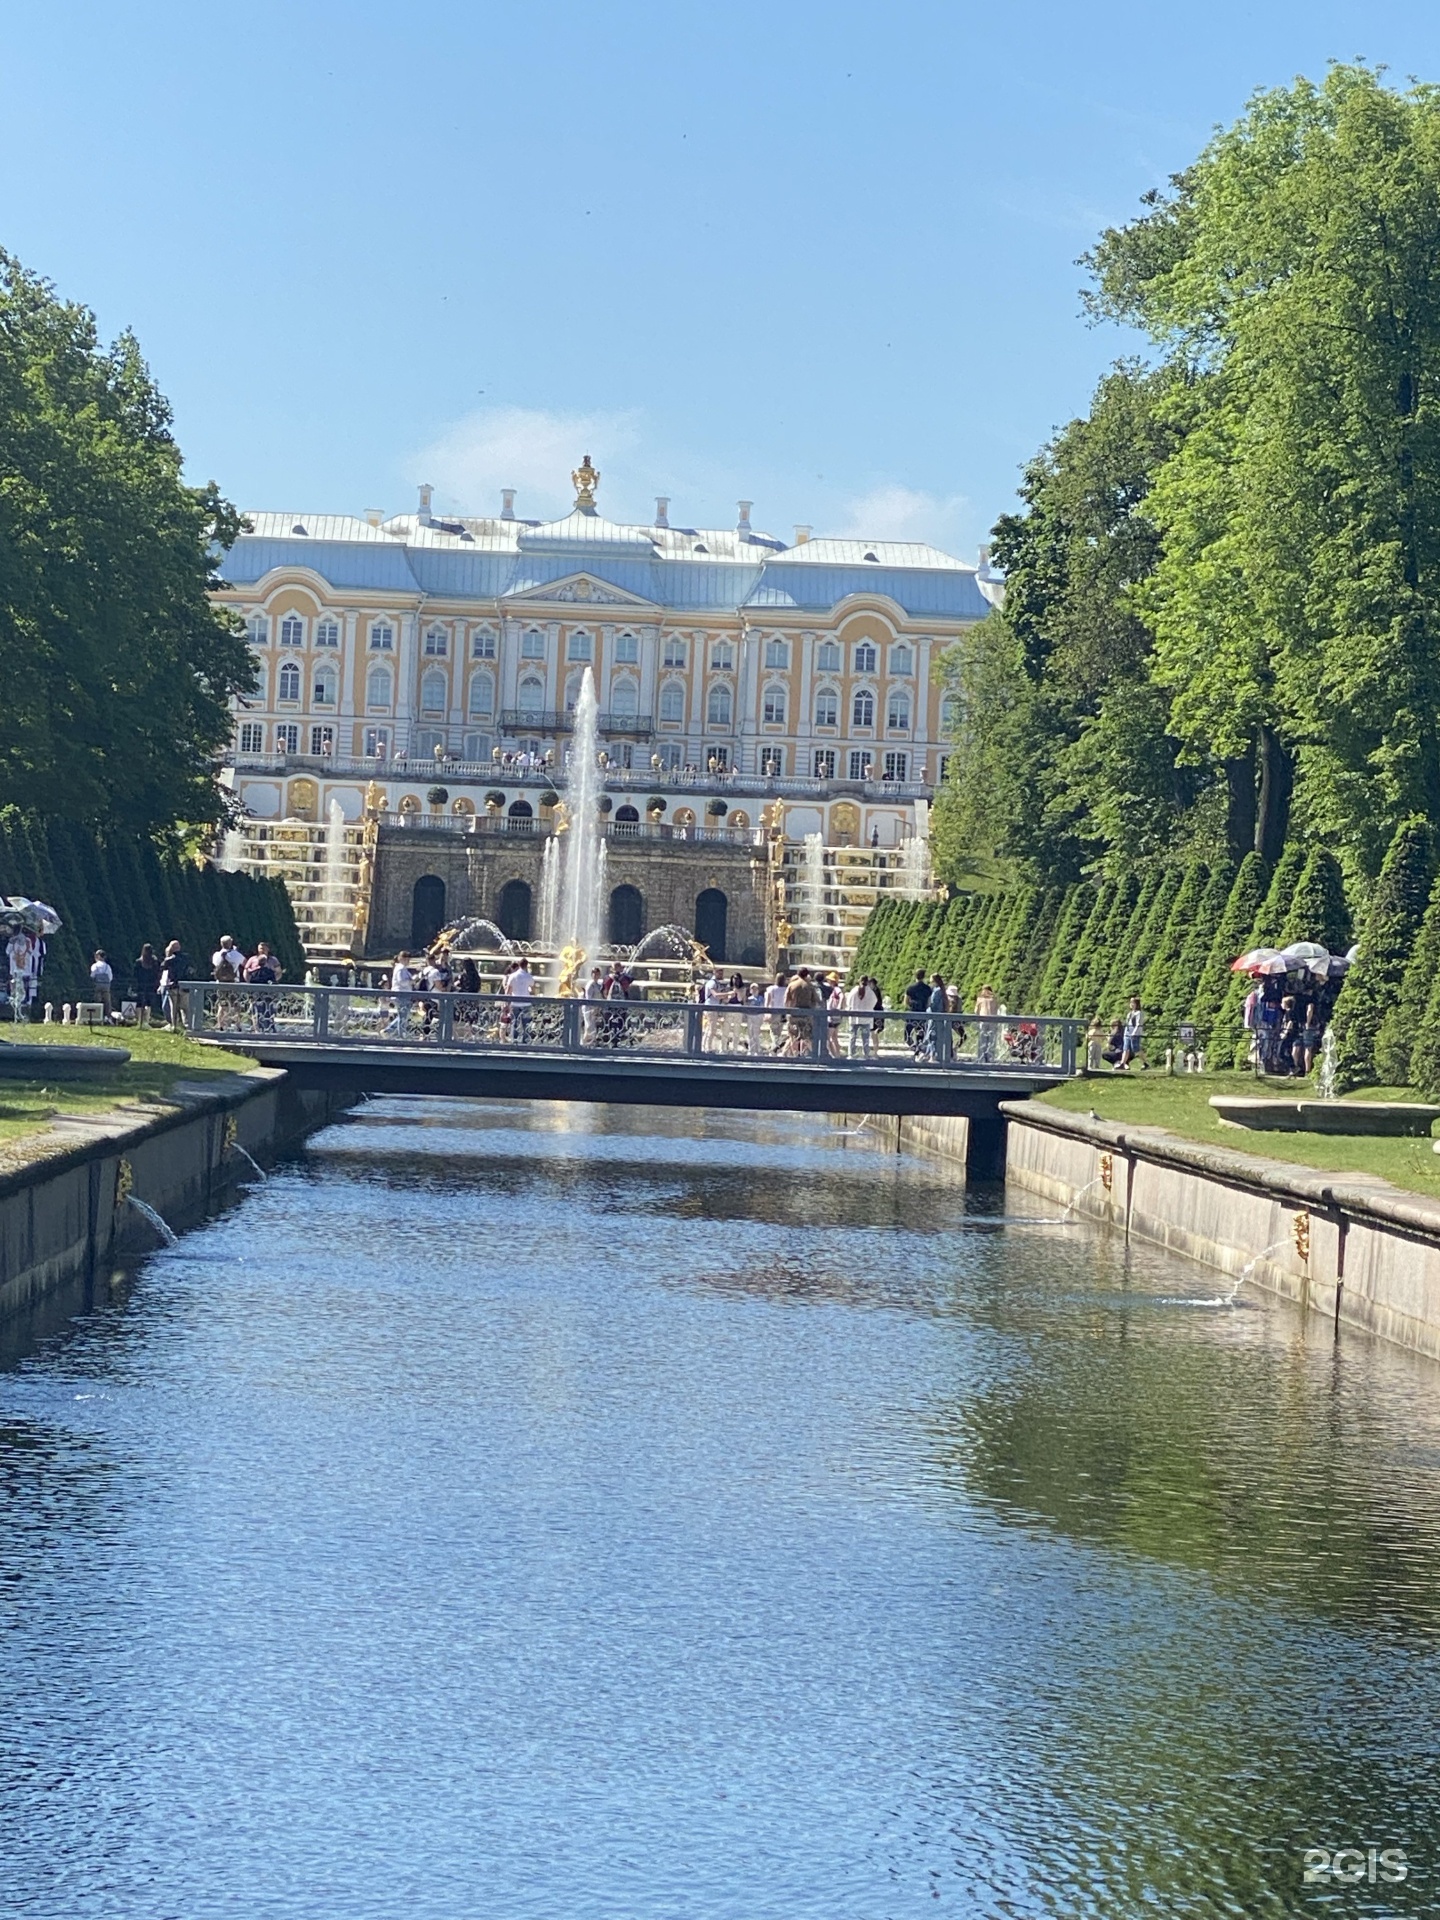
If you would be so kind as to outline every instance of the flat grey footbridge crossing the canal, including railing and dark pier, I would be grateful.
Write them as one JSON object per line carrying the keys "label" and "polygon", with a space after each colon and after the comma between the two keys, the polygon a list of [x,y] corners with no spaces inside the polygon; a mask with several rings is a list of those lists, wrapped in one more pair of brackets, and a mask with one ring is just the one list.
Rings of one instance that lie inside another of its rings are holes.
{"label": "flat grey footbridge crossing the canal, including railing and dark pier", "polygon": [[372,987],[184,987],[194,1039],[330,1092],[756,1112],[954,1116],[1004,1169],[1000,1100],[1071,1079],[1081,1021],[1031,1014],[758,1014],[678,1000]]}

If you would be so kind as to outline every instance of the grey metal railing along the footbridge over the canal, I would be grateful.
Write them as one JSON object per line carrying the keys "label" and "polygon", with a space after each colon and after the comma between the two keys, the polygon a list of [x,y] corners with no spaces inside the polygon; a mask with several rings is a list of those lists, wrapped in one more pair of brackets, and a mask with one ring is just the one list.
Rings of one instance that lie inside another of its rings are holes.
{"label": "grey metal railing along the footbridge over the canal", "polygon": [[756,1068],[883,1066],[1071,1075],[1083,1021],[1039,1014],[929,1014],[885,1008],[751,1008],[693,1000],[561,1000],[490,993],[396,993],[380,987],[257,987],[192,981],[186,1023],[198,1039],[330,1046],[445,1046],[476,1052],[626,1054]]}

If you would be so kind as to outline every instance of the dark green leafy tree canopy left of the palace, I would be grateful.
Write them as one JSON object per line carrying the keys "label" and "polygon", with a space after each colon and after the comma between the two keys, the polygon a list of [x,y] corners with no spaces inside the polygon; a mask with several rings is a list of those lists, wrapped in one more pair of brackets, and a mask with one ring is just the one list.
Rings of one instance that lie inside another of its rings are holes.
{"label": "dark green leafy tree canopy left of the palace", "polygon": [[186,486],[131,334],[0,253],[0,806],[109,831],[213,822],[228,701],[253,685],[209,599],[240,532]]}

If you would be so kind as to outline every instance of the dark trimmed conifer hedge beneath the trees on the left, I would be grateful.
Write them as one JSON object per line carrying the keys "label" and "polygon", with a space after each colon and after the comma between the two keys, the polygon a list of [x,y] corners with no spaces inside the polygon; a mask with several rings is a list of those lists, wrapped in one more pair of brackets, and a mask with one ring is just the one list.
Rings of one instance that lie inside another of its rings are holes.
{"label": "dark trimmed conifer hedge beneath the trees on the left", "polygon": [[0,893],[44,900],[63,922],[46,943],[46,1000],[88,998],[96,948],[104,948],[115,970],[117,1000],[129,996],[144,941],[157,954],[169,941],[180,941],[194,964],[209,973],[221,933],[232,933],[248,954],[269,941],[286,979],[305,975],[305,952],[282,881],[175,860],[150,841],[109,845],[75,822],[8,806],[0,812]]}

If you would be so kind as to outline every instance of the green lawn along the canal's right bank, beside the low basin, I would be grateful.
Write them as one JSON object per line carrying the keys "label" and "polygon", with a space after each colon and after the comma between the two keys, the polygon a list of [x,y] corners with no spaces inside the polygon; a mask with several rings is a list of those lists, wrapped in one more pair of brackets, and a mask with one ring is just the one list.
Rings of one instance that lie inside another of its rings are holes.
{"label": "green lawn along the canal's right bank, beside the low basin", "polygon": [[[1260,1154],[1265,1160],[1292,1160],[1304,1167],[1323,1167],[1327,1173],[1377,1173],[1411,1192],[1440,1196],[1440,1154],[1432,1150],[1430,1140],[1371,1140],[1223,1127],[1208,1104],[1215,1092],[1238,1098],[1315,1098],[1309,1081],[1263,1083],[1252,1073],[1177,1073],[1171,1079],[1165,1073],[1148,1071],[1096,1073],[1068,1081],[1043,1098],[1048,1106],[1062,1106],[1071,1114],[1092,1112],[1100,1119],[1167,1127],[1187,1140],[1206,1140],[1212,1146],[1229,1146],[1235,1152]],[[1352,1098],[1419,1100],[1419,1094],[1404,1087],[1367,1087]]]}

